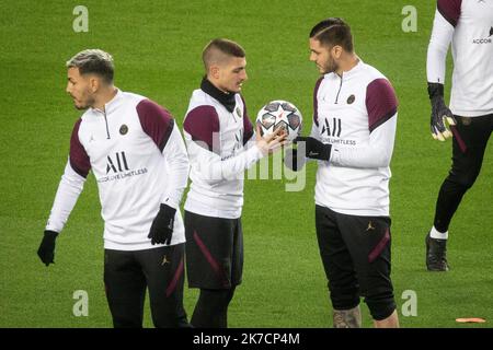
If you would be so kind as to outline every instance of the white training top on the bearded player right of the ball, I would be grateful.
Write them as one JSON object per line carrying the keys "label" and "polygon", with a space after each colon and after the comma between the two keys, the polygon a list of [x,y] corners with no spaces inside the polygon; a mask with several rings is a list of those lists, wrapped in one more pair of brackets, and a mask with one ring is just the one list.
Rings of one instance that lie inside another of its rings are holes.
{"label": "white training top on the bearded player right of the ball", "polygon": [[319,161],[316,203],[352,215],[389,215],[389,164],[398,101],[390,82],[359,61],[316,85],[311,136],[332,144]]}

